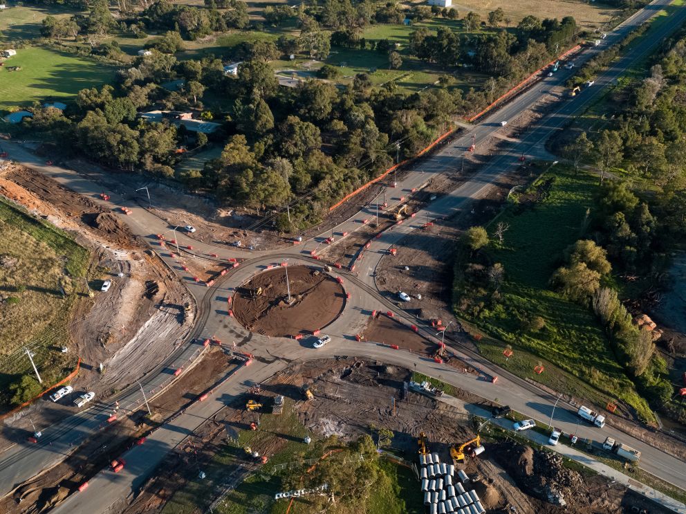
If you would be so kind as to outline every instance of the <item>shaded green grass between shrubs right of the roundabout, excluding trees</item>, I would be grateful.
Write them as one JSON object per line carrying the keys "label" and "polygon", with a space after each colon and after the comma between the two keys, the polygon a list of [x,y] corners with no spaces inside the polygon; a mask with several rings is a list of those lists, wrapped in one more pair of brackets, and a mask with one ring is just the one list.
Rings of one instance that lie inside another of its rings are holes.
{"label": "shaded green grass between shrubs right of the roundabout, excluding trees", "polygon": [[[647,403],[615,360],[593,313],[548,286],[564,248],[583,235],[597,178],[584,173],[575,176],[557,166],[533,186],[539,191],[546,188],[549,191],[543,199],[526,207],[512,205],[490,224],[490,232],[499,221],[510,228],[502,246],[487,250],[489,261],[503,264],[505,282],[501,302],[470,320],[485,332],[480,349],[490,360],[520,376],[550,383],[601,406],[613,399],[624,401],[644,419],[653,421]],[[538,332],[522,329],[519,320],[523,316],[540,316],[545,327]],[[515,351],[509,360],[502,354],[506,344]],[[539,360],[546,367],[540,376],[533,372]],[[593,394],[589,385],[601,394]]]}

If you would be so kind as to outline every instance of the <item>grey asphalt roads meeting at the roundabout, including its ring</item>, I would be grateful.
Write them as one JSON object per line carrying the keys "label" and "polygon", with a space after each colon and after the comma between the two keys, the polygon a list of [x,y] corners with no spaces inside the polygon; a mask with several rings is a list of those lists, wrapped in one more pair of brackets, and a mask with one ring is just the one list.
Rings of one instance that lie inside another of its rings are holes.
{"label": "grey asphalt roads meeting at the roundabout, including its ring", "polygon": [[[666,0],[658,0],[651,3],[648,8],[640,11],[637,15],[627,21],[626,24],[609,33],[605,40],[605,45],[611,44],[618,39],[621,39],[634,26],[645,21],[654,12],[659,10],[661,6],[667,5]],[[468,201],[478,198],[484,187],[488,187],[489,183],[497,181],[501,174],[506,173],[512,166],[517,165],[517,159],[524,154],[535,154],[541,152],[544,141],[553,133],[553,131],[562,127],[568,121],[569,116],[584,109],[588,102],[592,102],[594,98],[600,94],[603,86],[610,84],[618,75],[623,73],[624,69],[631,64],[636,58],[642,57],[651,46],[657,44],[662,38],[663,33],[674,30],[678,24],[683,22],[686,17],[686,12],[681,10],[677,15],[671,17],[666,23],[660,33],[654,35],[653,39],[641,42],[633,49],[631,55],[621,59],[611,70],[599,77],[595,86],[584,91],[578,95],[574,100],[566,100],[557,111],[550,113],[544,118],[542,122],[532,130],[528,131],[522,140],[512,143],[510,148],[492,158],[490,163],[483,167],[483,169],[475,176],[466,181],[463,185],[458,187],[454,192],[442,196],[441,199],[434,201],[427,207],[425,211],[418,214],[416,219],[425,219],[428,215],[431,218],[438,218],[452,214],[455,210],[464,208]],[[582,60],[588,59],[595,55],[602,48],[588,49],[582,57],[577,57],[575,62],[580,63]],[[494,131],[500,129],[500,120],[514,119],[521,110],[530,107],[536,102],[544,89],[551,86],[561,84],[566,80],[568,75],[572,72],[561,70],[553,77],[546,77],[544,80],[536,84],[528,91],[519,95],[515,100],[512,100],[506,107],[500,109],[497,113],[485,118],[483,122],[476,125],[472,131],[460,138],[456,138],[451,143],[443,145],[441,149],[434,152],[432,156],[425,158],[422,161],[420,169],[411,170],[402,180],[398,181],[397,196],[393,196],[396,190],[389,188],[389,195],[391,198],[391,205],[393,202],[398,203],[399,196],[402,196],[402,191],[409,191],[414,187],[420,187],[431,174],[441,173],[446,170],[455,170],[457,167],[456,159],[463,154],[467,147],[471,145],[472,132],[476,135],[476,143],[478,146],[479,140],[492,134]],[[100,186],[86,179],[78,176],[70,170],[59,167],[46,166],[43,162],[30,154],[25,152],[21,147],[3,143],[8,149],[13,159],[24,162],[27,165],[41,169],[50,174],[57,181],[67,185],[72,190],[85,194],[86,196],[93,196],[100,192]],[[478,152],[477,152],[478,153]],[[104,205],[129,205],[129,201],[122,199],[120,196],[113,194],[111,203],[104,203]],[[124,203],[126,202],[126,203]],[[351,232],[360,226],[360,221],[365,217],[369,217],[371,208],[362,210],[360,213],[351,217],[349,221],[342,223],[336,228],[337,232]],[[151,237],[159,232],[169,230],[169,227],[151,214],[147,210],[139,207],[133,207],[133,214],[129,217],[122,217],[129,223],[132,230],[143,237]],[[299,345],[297,342],[272,339],[270,341],[264,340],[261,336],[256,334],[245,333],[242,327],[233,326],[229,324],[230,329],[223,329],[226,324],[225,315],[221,313],[225,309],[225,304],[219,304],[217,298],[225,296],[222,293],[222,288],[227,288],[223,284],[241,284],[243,279],[252,273],[256,273],[258,268],[254,267],[254,263],[250,266],[241,267],[238,270],[227,275],[225,282],[216,284],[208,291],[204,286],[198,286],[192,282],[191,277],[184,276],[182,279],[187,282],[190,290],[201,304],[201,319],[198,322],[198,329],[196,329],[196,336],[210,336],[212,334],[221,335],[224,340],[238,340],[241,349],[244,351],[253,351],[259,359],[249,369],[241,369],[237,372],[235,379],[226,383],[212,401],[206,403],[198,403],[191,407],[185,414],[178,416],[172,423],[165,426],[162,430],[158,430],[156,434],[149,438],[148,443],[144,446],[136,447],[126,456],[127,468],[118,475],[111,472],[102,472],[91,481],[91,486],[84,493],[73,495],[64,506],[57,508],[55,512],[64,511],[66,508],[76,508],[77,512],[102,512],[106,508],[113,505],[118,499],[125,497],[129,492],[136,490],[140,485],[140,481],[144,480],[149,473],[154,471],[157,463],[163,459],[164,455],[174,446],[183,436],[189,431],[192,431],[200,423],[214,413],[225,401],[230,400],[237,394],[241,394],[249,387],[252,380],[261,381],[268,376],[271,376],[277,369],[284,367],[287,362],[294,358],[314,358],[324,355],[359,355],[370,358],[380,358],[387,362],[393,362],[398,365],[406,365],[413,367],[417,365],[419,371],[423,371],[432,376],[440,376],[443,380],[454,383],[459,387],[471,390],[476,394],[480,394],[486,398],[500,398],[500,401],[509,403],[516,410],[520,410],[527,415],[539,416],[545,418],[549,416],[552,410],[552,403],[550,398],[545,394],[537,393],[537,389],[523,387],[521,381],[516,378],[508,378],[502,370],[497,370],[488,363],[482,361],[476,362],[476,367],[490,370],[492,374],[501,376],[501,380],[495,385],[485,382],[484,380],[474,380],[471,377],[458,374],[451,371],[447,367],[441,367],[434,362],[425,362],[418,359],[416,355],[406,354],[405,352],[398,352],[389,350],[387,347],[380,347],[372,344],[360,345],[360,343],[351,342],[353,336],[358,328],[362,327],[367,321],[364,313],[368,313],[372,309],[378,309],[382,298],[376,292],[376,285],[373,281],[373,270],[378,264],[378,260],[382,257],[385,250],[390,244],[396,244],[408,232],[418,227],[418,223],[405,223],[401,226],[396,226],[389,232],[384,233],[381,239],[374,241],[372,248],[365,257],[365,266],[369,273],[362,273],[359,279],[349,277],[346,282],[346,290],[351,291],[353,300],[351,305],[346,306],[344,315],[331,324],[327,328],[328,333],[335,335],[334,341],[324,349],[324,351],[314,352],[309,347]],[[219,253],[221,257],[247,257],[249,259],[261,258],[269,260],[274,257],[269,257],[267,252],[263,253],[245,253],[242,250],[227,250],[226,248],[215,248],[210,245],[199,244],[198,241],[188,238],[185,235],[178,234],[180,244],[192,244],[197,253]],[[328,232],[327,232],[328,235]],[[293,259],[298,255],[309,254],[310,250],[319,248],[325,236],[315,237],[309,241],[304,242],[302,246],[294,247],[286,252],[286,254]],[[157,250],[160,250],[159,247]],[[180,270],[180,266],[168,257],[168,254],[163,253],[163,258],[167,263]],[[372,257],[376,255],[376,257]],[[280,259],[281,257],[279,257]],[[376,260],[375,260],[376,259]],[[259,265],[259,264],[258,264]],[[371,268],[371,269],[370,269]],[[247,275],[246,275],[247,274]],[[372,290],[372,288],[375,288]],[[398,315],[405,315],[404,313],[394,309]],[[159,388],[163,383],[170,379],[170,375],[174,369],[177,369],[185,362],[188,362],[190,356],[197,353],[198,346],[189,343],[186,347],[180,349],[174,355],[170,356],[165,362],[160,365],[156,372],[149,374],[144,380],[145,387],[149,390]],[[281,354],[281,353],[284,354]],[[467,356],[467,359],[474,360],[473,356]],[[488,371],[487,371],[488,372]],[[533,389],[533,390],[532,390]],[[139,403],[140,392],[138,389],[131,389],[121,396],[120,403],[122,406],[132,406]],[[123,401],[122,401],[123,400]],[[64,423],[56,425],[51,430],[46,430],[44,439],[41,443],[35,446],[18,445],[8,452],[4,452],[0,459],[0,484],[3,486],[3,493],[10,490],[13,484],[17,484],[24,479],[35,475],[40,470],[48,468],[54,463],[63,458],[65,452],[71,447],[71,444],[77,444],[90,434],[99,430],[102,427],[103,420],[109,416],[111,405],[95,405],[91,410],[82,412],[77,416],[67,419]],[[555,411],[554,424],[563,428],[565,431],[572,431],[577,425],[577,417],[568,410],[558,408]],[[642,467],[653,474],[658,475],[674,484],[686,483],[686,466],[684,463],[665,455],[654,448],[651,448],[641,441],[633,440],[625,434],[618,432],[613,434],[609,427],[606,427],[602,434],[597,429],[581,427],[579,432],[583,437],[604,437],[606,435],[613,435],[616,439],[629,443],[630,446],[637,448],[644,452],[644,459]],[[588,436],[584,435],[588,432]]]}

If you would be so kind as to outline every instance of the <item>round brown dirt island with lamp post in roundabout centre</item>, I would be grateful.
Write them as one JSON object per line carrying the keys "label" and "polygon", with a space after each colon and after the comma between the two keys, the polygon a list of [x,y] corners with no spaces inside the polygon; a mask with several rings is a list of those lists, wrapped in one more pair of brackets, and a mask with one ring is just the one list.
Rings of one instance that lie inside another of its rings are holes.
{"label": "round brown dirt island with lamp post in roundabout centre", "polygon": [[343,286],[322,270],[288,266],[288,284],[290,304],[283,267],[263,271],[237,288],[232,305],[238,322],[251,332],[293,337],[323,329],[342,313]]}

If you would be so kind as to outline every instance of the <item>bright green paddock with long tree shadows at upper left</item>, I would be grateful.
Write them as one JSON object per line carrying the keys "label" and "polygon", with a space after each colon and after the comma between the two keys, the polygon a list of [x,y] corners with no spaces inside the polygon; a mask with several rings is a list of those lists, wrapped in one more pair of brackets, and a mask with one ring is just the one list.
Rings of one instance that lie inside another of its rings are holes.
{"label": "bright green paddock with long tree shadows at upper left", "polygon": [[[21,66],[8,71],[8,66]],[[111,82],[115,68],[91,59],[46,48],[19,48],[0,68],[0,109],[37,100],[64,99],[86,87]]]}

